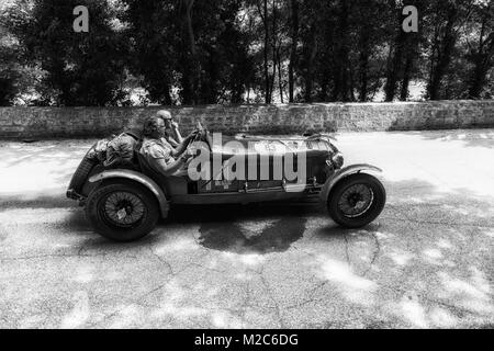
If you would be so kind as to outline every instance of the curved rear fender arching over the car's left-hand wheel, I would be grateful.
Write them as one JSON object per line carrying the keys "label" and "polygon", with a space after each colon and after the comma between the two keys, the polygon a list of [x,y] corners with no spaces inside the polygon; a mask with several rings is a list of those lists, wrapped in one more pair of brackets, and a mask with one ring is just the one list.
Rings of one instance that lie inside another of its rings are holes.
{"label": "curved rear fender arching over the car's left-hand wheel", "polygon": [[161,216],[164,218],[168,216],[168,211],[170,206],[168,204],[165,192],[153,179],[143,173],[127,169],[110,170],[92,176],[91,178],[89,178],[89,182],[94,183],[105,179],[119,179],[119,178],[128,179],[146,186],[156,196],[156,200],[158,200]]}

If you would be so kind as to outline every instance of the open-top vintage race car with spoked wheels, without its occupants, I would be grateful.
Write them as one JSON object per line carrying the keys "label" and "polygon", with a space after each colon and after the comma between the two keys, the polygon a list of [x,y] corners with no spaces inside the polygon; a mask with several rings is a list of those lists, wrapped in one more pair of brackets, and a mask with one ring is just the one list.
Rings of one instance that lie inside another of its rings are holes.
{"label": "open-top vintage race car with spoked wheels, without its occupants", "polygon": [[[325,203],[330,218],[346,228],[366,226],[384,207],[384,186],[368,173],[381,170],[370,165],[344,168],[344,157],[330,136],[285,139],[244,136],[218,145],[207,131],[202,135],[209,149],[197,148],[192,152],[207,151],[211,162],[205,167],[211,169],[204,173],[209,179],[194,179],[184,171],[165,177],[156,172],[138,150],[134,165],[105,169],[93,145],[72,176],[67,197],[86,207],[87,217],[98,234],[115,241],[143,238],[176,204],[316,200]],[[236,165],[232,167],[228,161],[233,158]],[[244,160],[245,165],[240,165]],[[220,168],[215,161],[220,161]],[[299,179],[293,179],[294,172],[287,172],[290,170],[288,161],[296,169]],[[225,172],[226,165],[231,173],[244,169],[245,177],[232,179]]]}

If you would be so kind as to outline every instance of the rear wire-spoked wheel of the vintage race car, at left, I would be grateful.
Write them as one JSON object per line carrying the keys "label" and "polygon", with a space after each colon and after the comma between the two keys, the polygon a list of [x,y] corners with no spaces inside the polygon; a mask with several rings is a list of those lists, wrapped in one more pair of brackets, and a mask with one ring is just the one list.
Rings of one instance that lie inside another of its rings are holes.
{"label": "rear wire-spoked wheel of the vintage race car, at left", "polygon": [[160,213],[155,195],[144,186],[132,182],[113,182],[89,194],[86,215],[101,236],[128,242],[149,234]]}

